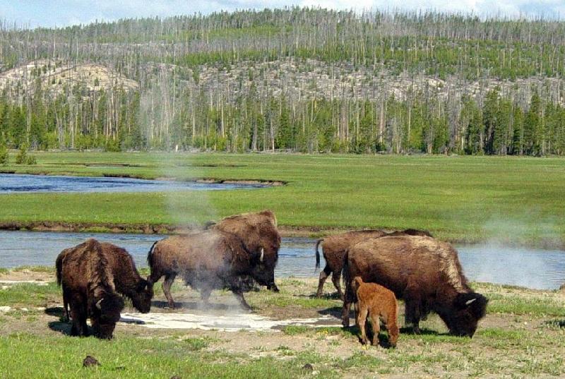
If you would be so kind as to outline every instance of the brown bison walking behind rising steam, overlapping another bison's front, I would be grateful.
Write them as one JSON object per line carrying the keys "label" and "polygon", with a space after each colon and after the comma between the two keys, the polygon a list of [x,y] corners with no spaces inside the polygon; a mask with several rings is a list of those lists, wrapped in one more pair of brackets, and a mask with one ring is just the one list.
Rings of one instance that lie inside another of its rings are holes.
{"label": "brown bison walking behind rising steam, overlapping another bison's front", "polygon": [[273,277],[263,267],[266,253],[249,252],[238,236],[220,230],[206,230],[194,234],[171,236],[157,241],[147,257],[151,268],[150,282],[162,276],[163,292],[169,306],[174,308],[171,285],[180,275],[184,282],[201,292],[208,303],[213,289],[230,289],[244,308],[249,309],[243,292],[248,277],[258,284],[273,284]]}

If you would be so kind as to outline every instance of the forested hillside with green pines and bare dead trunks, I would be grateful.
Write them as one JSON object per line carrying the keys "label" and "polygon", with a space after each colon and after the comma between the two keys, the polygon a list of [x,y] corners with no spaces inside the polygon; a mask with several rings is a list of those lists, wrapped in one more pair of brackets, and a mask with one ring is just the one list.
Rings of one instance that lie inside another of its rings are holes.
{"label": "forested hillside with green pines and bare dead trunks", "polygon": [[565,22],[311,8],[0,25],[0,144],[565,154]]}

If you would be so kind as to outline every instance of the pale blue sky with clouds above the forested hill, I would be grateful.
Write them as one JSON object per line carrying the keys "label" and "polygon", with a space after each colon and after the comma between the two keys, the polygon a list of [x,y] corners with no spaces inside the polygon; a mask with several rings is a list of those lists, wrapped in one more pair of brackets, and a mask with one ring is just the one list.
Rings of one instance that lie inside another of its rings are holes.
{"label": "pale blue sky with clouds above the forested hill", "polygon": [[478,16],[564,18],[565,0],[0,0],[0,19],[35,28],[64,27],[95,20],[176,16],[238,9],[319,6],[351,9],[433,9]]}

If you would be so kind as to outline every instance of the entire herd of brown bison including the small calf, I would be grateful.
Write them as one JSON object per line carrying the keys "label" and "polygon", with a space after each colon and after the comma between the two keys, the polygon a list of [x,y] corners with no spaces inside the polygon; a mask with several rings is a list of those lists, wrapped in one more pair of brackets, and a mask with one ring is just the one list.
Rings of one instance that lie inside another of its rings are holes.
{"label": "entire herd of brown bison including the small calf", "polygon": [[[396,345],[396,299],[405,302],[405,323],[419,333],[419,322],[435,312],[453,335],[472,337],[484,317],[487,299],[472,291],[463,275],[457,252],[427,231],[407,229],[350,231],[316,243],[316,267],[322,248],[326,267],[320,273],[317,295],[332,274],[343,299],[343,326],[349,326],[355,304],[363,343],[367,318],[378,342],[379,319],[386,324],[389,342]],[[249,309],[244,292],[254,285],[278,291],[275,266],[280,234],[273,212],[226,217],[206,229],[157,241],[148,253],[150,275],[139,275],[131,255],[111,243],[89,239],[57,257],[57,282],[63,291],[64,318],[72,320],[71,335],[86,336],[90,318],[94,335],[112,338],[124,299],[142,313],[150,311],[153,284],[162,288],[174,308],[171,285],[180,277],[208,302],[214,289],[230,289]],[[340,287],[343,275],[345,290]]]}

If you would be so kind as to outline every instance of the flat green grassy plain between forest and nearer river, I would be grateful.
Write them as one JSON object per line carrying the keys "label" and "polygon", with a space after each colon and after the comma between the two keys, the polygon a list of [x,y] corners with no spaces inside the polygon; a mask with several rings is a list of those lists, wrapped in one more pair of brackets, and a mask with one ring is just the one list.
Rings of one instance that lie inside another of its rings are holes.
{"label": "flat green grassy plain between forest and nearer river", "polygon": [[0,195],[0,222],[200,224],[270,208],[287,233],[428,229],[450,241],[565,241],[562,158],[42,152],[0,172],[284,181],[258,190]]}

